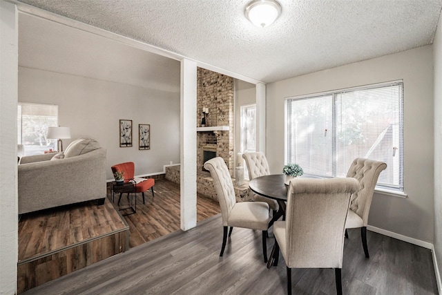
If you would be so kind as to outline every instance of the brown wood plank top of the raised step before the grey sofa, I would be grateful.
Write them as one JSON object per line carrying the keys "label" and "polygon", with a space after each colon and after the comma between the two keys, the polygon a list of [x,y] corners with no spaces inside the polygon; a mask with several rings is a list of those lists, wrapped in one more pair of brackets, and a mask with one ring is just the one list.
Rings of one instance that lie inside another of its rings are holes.
{"label": "brown wood plank top of the raised step before the grey sofa", "polygon": [[19,264],[66,245],[125,230],[127,225],[107,200],[102,206],[91,201],[24,214],[19,221]]}

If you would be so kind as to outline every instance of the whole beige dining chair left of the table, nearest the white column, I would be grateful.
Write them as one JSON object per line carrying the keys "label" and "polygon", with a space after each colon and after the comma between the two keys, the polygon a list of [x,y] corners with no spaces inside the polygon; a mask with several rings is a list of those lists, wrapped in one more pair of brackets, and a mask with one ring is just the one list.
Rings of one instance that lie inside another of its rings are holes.
{"label": "whole beige dining chair left of the table, nearest the white column", "polygon": [[236,202],[233,182],[226,163],[220,157],[212,158],[204,163],[213,178],[213,186],[221,207],[222,247],[220,256],[224,253],[227,243],[227,229],[230,227],[229,237],[233,227],[244,227],[262,231],[262,255],[267,262],[267,229],[269,227],[269,204],[266,202]]}

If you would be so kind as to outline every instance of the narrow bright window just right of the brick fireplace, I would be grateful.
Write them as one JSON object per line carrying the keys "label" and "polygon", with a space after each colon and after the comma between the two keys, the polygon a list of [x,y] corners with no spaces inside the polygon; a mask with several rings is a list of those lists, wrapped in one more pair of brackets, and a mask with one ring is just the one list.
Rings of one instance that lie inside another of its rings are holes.
{"label": "narrow bright window just right of the brick fireplace", "polygon": [[[256,151],[256,104],[241,106],[241,153]],[[244,178],[249,179],[247,166],[244,166]]]}

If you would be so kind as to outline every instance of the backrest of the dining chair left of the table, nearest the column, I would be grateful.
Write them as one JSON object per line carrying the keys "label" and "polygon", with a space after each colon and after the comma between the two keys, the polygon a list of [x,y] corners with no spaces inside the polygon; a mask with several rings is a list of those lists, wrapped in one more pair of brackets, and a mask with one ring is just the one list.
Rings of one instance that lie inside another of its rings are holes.
{"label": "backrest of the dining chair left of the table, nearest the column", "polygon": [[229,169],[220,157],[212,158],[205,162],[204,168],[209,170],[213,178],[213,186],[215,187],[221,207],[222,225],[227,227],[227,220],[229,220],[231,209],[236,203],[235,190],[233,189]]}

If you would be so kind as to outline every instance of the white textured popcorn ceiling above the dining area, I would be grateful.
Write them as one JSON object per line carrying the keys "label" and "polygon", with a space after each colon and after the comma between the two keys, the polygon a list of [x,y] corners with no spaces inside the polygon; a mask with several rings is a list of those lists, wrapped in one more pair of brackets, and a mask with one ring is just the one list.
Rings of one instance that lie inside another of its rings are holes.
{"label": "white textured popcorn ceiling above the dining area", "polygon": [[262,82],[432,44],[442,0],[279,0],[267,28],[249,0],[21,0]]}

